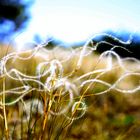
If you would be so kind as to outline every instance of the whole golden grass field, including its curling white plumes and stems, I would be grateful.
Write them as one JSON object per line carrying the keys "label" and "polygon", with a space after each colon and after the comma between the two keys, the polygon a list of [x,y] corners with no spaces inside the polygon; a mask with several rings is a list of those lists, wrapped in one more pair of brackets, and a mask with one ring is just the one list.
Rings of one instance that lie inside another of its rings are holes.
{"label": "whole golden grass field, including its curling white plumes and stems", "polygon": [[[0,49],[1,61],[10,52],[15,52],[11,47],[8,51],[7,47]],[[34,51],[4,59],[7,59],[4,61],[7,72],[14,68],[25,75],[10,73],[18,79],[15,80],[1,72],[1,139],[140,139],[140,62],[121,59],[121,67],[114,57],[108,63],[107,57],[100,59],[100,54],[89,49],[80,63],[81,51],[82,48],[40,49],[31,58]],[[77,67],[78,62],[80,67]],[[39,64],[42,65],[39,67]],[[36,76],[37,72],[40,78],[35,81],[31,76]],[[92,74],[82,77],[90,72]],[[115,87],[107,90],[108,85],[113,85],[125,74]],[[45,83],[49,90],[38,81]],[[27,92],[25,86],[29,87]],[[18,87],[22,88],[14,90]],[[133,93],[136,88],[138,90]],[[132,93],[127,92],[129,90]],[[107,92],[99,94],[104,91]]]}

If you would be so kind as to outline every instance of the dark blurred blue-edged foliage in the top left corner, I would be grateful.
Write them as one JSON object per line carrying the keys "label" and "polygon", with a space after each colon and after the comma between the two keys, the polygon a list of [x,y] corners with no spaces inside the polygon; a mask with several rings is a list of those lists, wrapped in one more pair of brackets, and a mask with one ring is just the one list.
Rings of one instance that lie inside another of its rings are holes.
{"label": "dark blurred blue-edged foliage in the top left corner", "polygon": [[0,41],[26,27],[30,18],[28,7],[32,3],[33,0],[0,1]]}

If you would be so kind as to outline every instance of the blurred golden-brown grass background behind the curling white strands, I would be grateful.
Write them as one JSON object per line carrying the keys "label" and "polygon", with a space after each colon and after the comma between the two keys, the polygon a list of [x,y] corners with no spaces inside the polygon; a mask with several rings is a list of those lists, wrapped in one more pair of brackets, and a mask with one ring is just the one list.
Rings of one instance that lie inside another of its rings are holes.
{"label": "blurred golden-brown grass background behind the curling white strands", "polygon": [[[8,48],[9,50],[10,48]],[[71,48],[53,48],[54,50],[49,50],[50,52],[45,52],[45,50],[40,50],[36,55],[28,60],[18,60],[16,56],[7,62],[7,69],[16,68],[27,75],[36,75],[36,67],[39,63],[43,62],[43,56],[47,59],[47,62],[52,60],[64,60],[62,61],[62,66],[64,69],[63,77],[69,75],[76,67],[76,63],[79,59],[81,50],[75,50],[76,55],[73,55],[70,59],[72,51]],[[1,47],[2,52],[7,52],[6,47]],[[79,51],[80,50],[80,51]],[[47,51],[47,50],[46,50]],[[88,54],[89,51],[86,53]],[[33,52],[21,53],[20,57],[27,58]],[[47,55],[46,55],[47,54]],[[1,58],[5,53],[0,54]],[[104,69],[108,65],[107,57],[99,59],[100,55],[96,53],[91,53],[84,56],[82,65],[80,69],[73,71],[74,73],[69,77],[69,81],[75,82],[75,79],[90,72],[98,69]],[[66,59],[68,61],[66,61]],[[100,60],[100,61],[99,61]],[[65,62],[66,61],[66,62]],[[123,66],[129,70],[136,73],[140,72],[140,63],[135,60],[123,60]],[[100,80],[106,81],[113,84],[117,79],[123,75],[123,69],[118,65],[118,62],[113,59],[113,68],[99,77]],[[118,67],[117,67],[118,66]],[[46,68],[47,69],[47,68]],[[44,70],[45,71],[45,68]],[[58,70],[57,73],[60,71]],[[15,75],[13,75],[15,76]],[[79,82],[86,81],[88,79],[95,79],[98,77],[98,73],[87,76],[81,79]],[[42,81],[46,77],[43,77]],[[124,78],[118,86],[120,89],[133,89],[139,86],[140,76],[132,75]],[[0,81],[1,91],[3,90],[3,77]],[[24,80],[23,80],[24,82]],[[36,87],[36,83],[25,81],[25,85],[30,84],[31,87]],[[21,83],[19,81],[11,80],[6,76],[5,78],[5,90],[12,89],[14,87],[19,87]],[[79,83],[80,84],[80,83]],[[78,85],[77,85],[78,87]],[[48,113],[49,106],[49,96],[45,91],[33,90],[23,97],[23,100],[8,106],[6,105],[6,115],[7,115],[7,125],[8,130],[5,131],[4,117],[3,117],[3,106],[1,106],[1,117],[0,118],[0,137],[10,138],[10,139],[67,139],[67,140],[139,140],[139,126],[140,126],[140,92],[139,90],[135,93],[121,93],[116,90],[109,90],[105,94],[98,95],[96,93],[106,90],[107,87],[101,83],[93,83],[86,94],[83,96],[82,100],[86,104],[85,114],[76,120],[69,120],[68,114],[53,115]],[[86,90],[83,89],[79,96],[74,97],[74,102],[78,101],[82,96],[81,94]],[[123,90],[122,90],[123,91]],[[57,93],[58,92],[58,93]],[[54,104],[57,104],[57,94],[60,91],[55,91]],[[62,92],[63,93],[63,92]],[[2,98],[2,95],[1,95]],[[17,97],[13,95],[12,92],[5,96],[6,102],[11,102]],[[41,104],[37,102],[35,106],[29,101],[34,101],[34,99],[39,99],[43,104],[47,104],[42,108]],[[61,101],[61,99],[59,99]],[[62,99],[63,102],[68,101],[68,97]],[[63,104],[61,102],[61,104]],[[24,106],[26,104],[26,108]],[[59,104],[61,106],[61,104]],[[64,103],[63,106],[66,106]],[[57,104],[58,105],[58,104]],[[82,105],[82,104],[81,104]],[[58,107],[58,108],[57,108]],[[53,109],[61,109],[59,106],[52,106]],[[28,113],[28,111],[29,113]],[[34,109],[36,111],[34,111]],[[80,109],[80,108],[79,108]],[[81,107],[82,109],[82,107]],[[44,112],[44,113],[42,113]],[[80,113],[80,112],[79,112]],[[80,114],[76,114],[80,115]],[[30,117],[29,117],[30,116]],[[47,116],[47,118],[45,117]],[[29,119],[28,119],[29,117]],[[46,122],[45,122],[46,120]],[[45,127],[43,128],[45,124]]]}

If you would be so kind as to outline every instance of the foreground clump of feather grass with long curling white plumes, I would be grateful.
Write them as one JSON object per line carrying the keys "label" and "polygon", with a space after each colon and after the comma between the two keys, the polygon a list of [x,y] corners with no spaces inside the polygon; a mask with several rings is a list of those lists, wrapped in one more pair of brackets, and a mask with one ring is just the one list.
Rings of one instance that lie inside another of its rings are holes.
{"label": "foreground clump of feather grass with long curling white plumes", "polygon": [[[93,45],[96,36],[75,49],[57,46],[47,50],[45,43],[1,58],[0,78],[6,79],[6,83],[0,91],[5,115],[0,116],[9,126],[9,129],[5,126],[10,132],[7,137],[13,138],[15,134],[16,139],[62,139],[68,136],[75,121],[84,118],[89,97],[140,91],[139,60],[121,58],[114,49],[124,48],[113,44],[111,50],[97,55],[95,51],[102,41]],[[123,44],[130,43],[110,37]],[[132,65],[135,68],[129,67]],[[121,86],[127,78],[135,79],[135,83],[134,80],[130,83],[131,88]],[[16,124],[14,129],[10,123]]]}

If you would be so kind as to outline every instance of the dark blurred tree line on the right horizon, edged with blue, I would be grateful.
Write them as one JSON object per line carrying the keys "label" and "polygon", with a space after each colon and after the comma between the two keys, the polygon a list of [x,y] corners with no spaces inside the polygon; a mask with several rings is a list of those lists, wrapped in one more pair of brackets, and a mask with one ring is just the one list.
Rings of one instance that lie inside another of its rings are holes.
{"label": "dark blurred tree line on the right horizon, edged with blue", "polygon": [[[134,34],[129,38],[128,34],[130,33],[123,33],[119,36],[117,36],[117,34],[112,35],[112,33],[109,33],[109,35],[103,34],[95,37],[92,41],[94,45],[98,43],[97,52],[101,53],[110,50],[114,46],[121,46],[114,49],[120,56],[140,59],[140,35]],[[123,41],[126,35],[128,41]]]}

